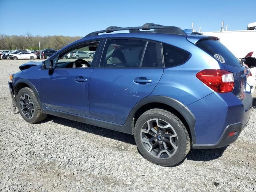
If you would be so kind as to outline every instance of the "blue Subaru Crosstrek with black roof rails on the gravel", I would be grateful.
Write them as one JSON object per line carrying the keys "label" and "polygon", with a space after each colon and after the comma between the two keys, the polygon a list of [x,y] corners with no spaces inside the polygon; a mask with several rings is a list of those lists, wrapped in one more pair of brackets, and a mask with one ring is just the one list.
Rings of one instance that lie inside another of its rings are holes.
{"label": "blue Subaru Crosstrek with black roof rails on the gravel", "polygon": [[[79,51],[94,58],[70,57]],[[250,118],[242,62],[218,38],[178,27],[111,26],[19,68],[9,87],[24,120],[50,114],[133,134],[140,153],[162,166],[191,148],[231,144]]]}

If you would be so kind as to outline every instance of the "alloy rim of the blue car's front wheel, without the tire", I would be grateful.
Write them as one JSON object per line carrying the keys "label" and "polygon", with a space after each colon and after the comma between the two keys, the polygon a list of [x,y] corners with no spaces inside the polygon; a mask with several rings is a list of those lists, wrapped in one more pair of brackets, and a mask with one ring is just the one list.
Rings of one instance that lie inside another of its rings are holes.
{"label": "alloy rim of the blue car's front wheel, without the tire", "polygon": [[20,109],[26,118],[31,119],[34,117],[34,102],[32,98],[26,93],[20,96]]}

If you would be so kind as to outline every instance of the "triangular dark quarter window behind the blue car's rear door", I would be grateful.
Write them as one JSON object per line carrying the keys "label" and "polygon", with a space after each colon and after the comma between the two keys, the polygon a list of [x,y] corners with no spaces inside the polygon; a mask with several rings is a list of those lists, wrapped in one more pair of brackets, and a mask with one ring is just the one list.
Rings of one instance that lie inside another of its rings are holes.
{"label": "triangular dark quarter window behind the blue car's rear door", "polygon": [[174,46],[163,43],[164,66],[172,67],[186,62],[189,53]]}

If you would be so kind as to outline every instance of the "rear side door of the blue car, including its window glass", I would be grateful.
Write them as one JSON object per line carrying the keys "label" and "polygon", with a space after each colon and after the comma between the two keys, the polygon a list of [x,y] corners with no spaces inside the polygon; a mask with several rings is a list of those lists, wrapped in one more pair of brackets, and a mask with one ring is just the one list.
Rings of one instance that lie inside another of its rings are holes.
{"label": "rear side door of the blue car, including its window glass", "polygon": [[163,74],[161,45],[134,39],[107,39],[98,68],[90,75],[93,118],[124,124],[132,108],[154,90]]}

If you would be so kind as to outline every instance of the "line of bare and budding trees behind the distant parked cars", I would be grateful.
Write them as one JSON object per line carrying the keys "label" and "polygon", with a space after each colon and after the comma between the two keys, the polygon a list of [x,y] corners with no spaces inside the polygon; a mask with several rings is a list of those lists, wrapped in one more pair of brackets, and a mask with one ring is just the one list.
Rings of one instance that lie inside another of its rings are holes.
{"label": "line of bare and budding trees behind the distant parked cars", "polygon": [[4,35],[0,34],[0,50],[18,50],[18,49],[29,49],[29,50],[39,50],[43,49],[55,49],[59,50],[62,47],[74,42],[82,37],[75,36],[32,36],[31,33],[27,32],[26,35]]}

